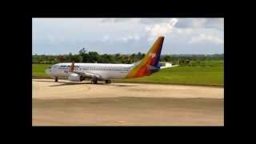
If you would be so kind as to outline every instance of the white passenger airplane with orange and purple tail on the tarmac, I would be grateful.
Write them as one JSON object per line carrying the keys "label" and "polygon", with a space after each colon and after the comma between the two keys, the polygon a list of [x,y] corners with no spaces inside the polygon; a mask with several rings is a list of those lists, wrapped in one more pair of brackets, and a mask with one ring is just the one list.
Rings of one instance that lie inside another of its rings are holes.
{"label": "white passenger airplane with orange and purple tail on the tarmac", "polygon": [[160,70],[160,55],[164,37],[158,37],[141,61],[132,64],[110,63],[58,63],[46,69],[46,74],[58,82],[58,78],[67,78],[70,82],[82,82],[90,79],[92,83],[105,81],[109,84],[111,78],[139,78],[148,76]]}

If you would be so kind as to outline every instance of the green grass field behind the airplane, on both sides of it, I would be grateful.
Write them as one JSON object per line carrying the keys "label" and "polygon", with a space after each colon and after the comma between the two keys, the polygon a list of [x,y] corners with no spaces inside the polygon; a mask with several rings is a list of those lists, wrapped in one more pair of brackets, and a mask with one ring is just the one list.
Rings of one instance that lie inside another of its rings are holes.
{"label": "green grass field behind the airplane, on both sides of it", "polygon": [[[33,64],[33,77],[49,77],[45,73],[48,66],[50,65]],[[224,66],[223,61],[205,61],[197,66],[176,66],[160,70],[148,77],[116,79],[114,82],[224,86]]]}

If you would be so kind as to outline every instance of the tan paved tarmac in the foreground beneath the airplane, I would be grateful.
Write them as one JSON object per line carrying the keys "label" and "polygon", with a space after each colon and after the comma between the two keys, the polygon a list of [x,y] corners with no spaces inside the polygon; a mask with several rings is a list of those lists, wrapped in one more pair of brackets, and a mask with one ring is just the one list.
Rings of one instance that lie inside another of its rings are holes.
{"label": "tan paved tarmac in the foreground beneath the airplane", "polygon": [[223,126],[224,123],[224,88],[50,81],[32,79],[33,126]]}

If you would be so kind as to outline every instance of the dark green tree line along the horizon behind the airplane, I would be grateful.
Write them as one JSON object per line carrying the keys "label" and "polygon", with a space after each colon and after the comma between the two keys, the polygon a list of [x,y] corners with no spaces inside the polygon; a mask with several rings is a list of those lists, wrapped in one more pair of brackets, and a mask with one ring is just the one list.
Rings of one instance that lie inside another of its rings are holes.
{"label": "dark green tree line along the horizon behind the airplane", "polygon": [[[33,63],[55,64],[59,62],[91,62],[91,63],[134,63],[141,60],[145,54],[98,54],[95,51],[80,50],[78,54],[32,55]],[[194,61],[223,60],[224,54],[163,54],[161,62],[173,64],[188,64]]]}

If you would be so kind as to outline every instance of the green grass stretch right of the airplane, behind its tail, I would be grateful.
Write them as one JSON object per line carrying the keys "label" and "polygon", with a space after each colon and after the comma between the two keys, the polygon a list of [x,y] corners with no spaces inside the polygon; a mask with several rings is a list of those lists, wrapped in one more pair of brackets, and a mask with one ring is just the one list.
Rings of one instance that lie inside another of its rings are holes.
{"label": "green grass stretch right of the airplane, behind its tail", "polygon": [[223,67],[221,66],[177,66],[160,70],[148,77],[116,81],[223,86],[223,79]]}

